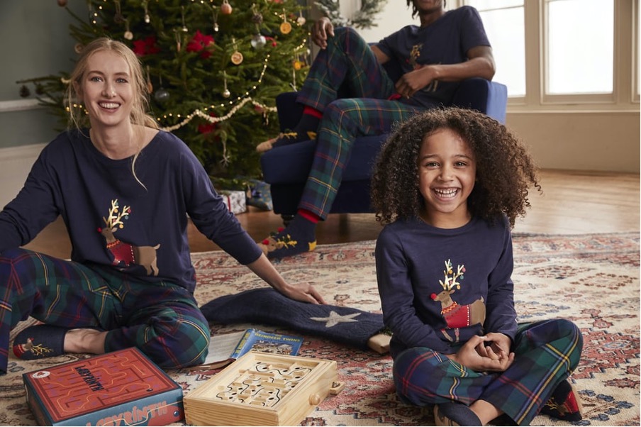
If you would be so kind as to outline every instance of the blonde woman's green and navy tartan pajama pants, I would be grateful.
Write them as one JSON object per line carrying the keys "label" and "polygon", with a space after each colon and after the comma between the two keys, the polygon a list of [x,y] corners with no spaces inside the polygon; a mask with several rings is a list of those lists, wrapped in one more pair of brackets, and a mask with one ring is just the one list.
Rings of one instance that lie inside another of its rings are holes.
{"label": "blonde woman's green and navy tartan pajama pants", "polygon": [[170,282],[143,282],[111,267],[30,250],[0,255],[0,374],[9,333],[28,316],[50,325],[108,331],[105,351],[138,347],[163,368],[204,362],[209,324],[193,294]]}

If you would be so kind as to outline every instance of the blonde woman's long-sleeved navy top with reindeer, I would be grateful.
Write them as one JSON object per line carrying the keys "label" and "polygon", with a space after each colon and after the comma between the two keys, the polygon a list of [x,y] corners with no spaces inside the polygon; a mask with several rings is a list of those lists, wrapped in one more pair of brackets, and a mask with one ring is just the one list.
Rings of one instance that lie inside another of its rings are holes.
{"label": "blonde woman's long-sleeved navy top with reindeer", "polygon": [[26,245],[60,215],[72,260],[193,292],[189,216],[241,264],[260,257],[182,140],[160,131],[140,152],[135,173],[143,187],[131,170],[133,157],[111,160],[87,135],[87,129],[61,133],[40,153],[23,189],[0,212],[0,253]]}

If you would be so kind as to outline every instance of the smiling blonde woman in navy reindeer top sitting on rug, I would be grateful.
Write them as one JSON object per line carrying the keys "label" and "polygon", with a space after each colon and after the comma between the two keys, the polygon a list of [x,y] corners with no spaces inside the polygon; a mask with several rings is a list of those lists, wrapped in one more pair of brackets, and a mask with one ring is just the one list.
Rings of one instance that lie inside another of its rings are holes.
{"label": "smiling blonde woman in navy reindeer top sitting on rug", "polygon": [[[282,294],[323,303],[308,284],[285,282],[240,226],[182,140],[147,111],[140,61],[123,43],[99,38],[79,55],[68,100],[75,127],[40,154],[26,183],[0,212],[0,373],[9,332],[23,359],[138,347],[165,368],[205,360],[210,332],[194,299],[187,218]],[[23,250],[62,216],[71,261]]]}

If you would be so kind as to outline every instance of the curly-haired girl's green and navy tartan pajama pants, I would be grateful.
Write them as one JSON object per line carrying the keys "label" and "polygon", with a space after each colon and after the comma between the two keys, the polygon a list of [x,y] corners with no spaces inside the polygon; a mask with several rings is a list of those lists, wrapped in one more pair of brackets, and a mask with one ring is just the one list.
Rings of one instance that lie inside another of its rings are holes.
{"label": "curly-haired girl's green and navy tartan pajama pants", "polygon": [[398,397],[418,406],[488,401],[519,426],[528,426],[552,392],[576,369],[581,331],[564,319],[520,323],[515,359],[504,372],[474,372],[428,348],[410,348],[394,360]]}

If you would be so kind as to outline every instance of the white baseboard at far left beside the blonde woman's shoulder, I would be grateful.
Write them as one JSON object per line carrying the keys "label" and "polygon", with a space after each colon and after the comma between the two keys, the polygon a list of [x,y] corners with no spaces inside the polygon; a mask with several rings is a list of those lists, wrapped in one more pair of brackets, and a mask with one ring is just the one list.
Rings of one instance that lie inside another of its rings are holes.
{"label": "white baseboard at far left beside the blonde woman's shoulder", "polygon": [[0,148],[0,207],[13,200],[23,187],[33,162],[45,144]]}

